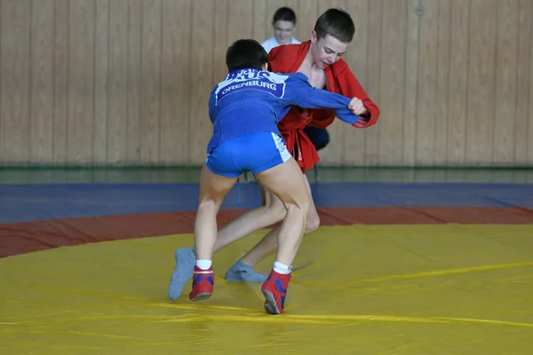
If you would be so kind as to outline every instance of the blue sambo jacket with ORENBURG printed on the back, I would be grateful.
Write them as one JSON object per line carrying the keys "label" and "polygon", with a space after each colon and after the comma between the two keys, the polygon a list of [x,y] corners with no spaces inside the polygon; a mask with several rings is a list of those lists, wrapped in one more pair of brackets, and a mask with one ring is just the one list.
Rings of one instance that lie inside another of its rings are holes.
{"label": "blue sambo jacket with ORENBURG printed on the back", "polygon": [[314,88],[302,73],[277,74],[253,68],[229,73],[211,91],[209,116],[213,135],[207,146],[213,148],[229,139],[252,132],[274,132],[290,106],[331,108],[344,122],[359,119],[348,109],[350,99]]}

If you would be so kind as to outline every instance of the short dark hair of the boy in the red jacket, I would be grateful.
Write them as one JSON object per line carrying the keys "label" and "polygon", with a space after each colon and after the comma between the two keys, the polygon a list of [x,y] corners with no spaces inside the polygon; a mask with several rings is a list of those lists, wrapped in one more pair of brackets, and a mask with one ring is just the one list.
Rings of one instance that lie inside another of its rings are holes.
{"label": "short dark hair of the boy in the red jacket", "polygon": [[348,12],[329,9],[316,20],[314,32],[318,38],[330,35],[342,43],[350,43],[355,33],[354,21]]}

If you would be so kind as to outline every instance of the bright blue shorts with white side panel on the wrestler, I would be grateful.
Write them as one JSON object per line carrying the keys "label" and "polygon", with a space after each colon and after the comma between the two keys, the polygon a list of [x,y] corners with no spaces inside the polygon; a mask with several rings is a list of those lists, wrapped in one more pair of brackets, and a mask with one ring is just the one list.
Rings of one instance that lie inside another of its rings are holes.
{"label": "bright blue shorts with white side panel on the wrestler", "polygon": [[287,162],[290,153],[283,139],[272,132],[254,132],[222,143],[207,154],[207,167],[223,177],[239,177],[244,171],[259,174]]}

